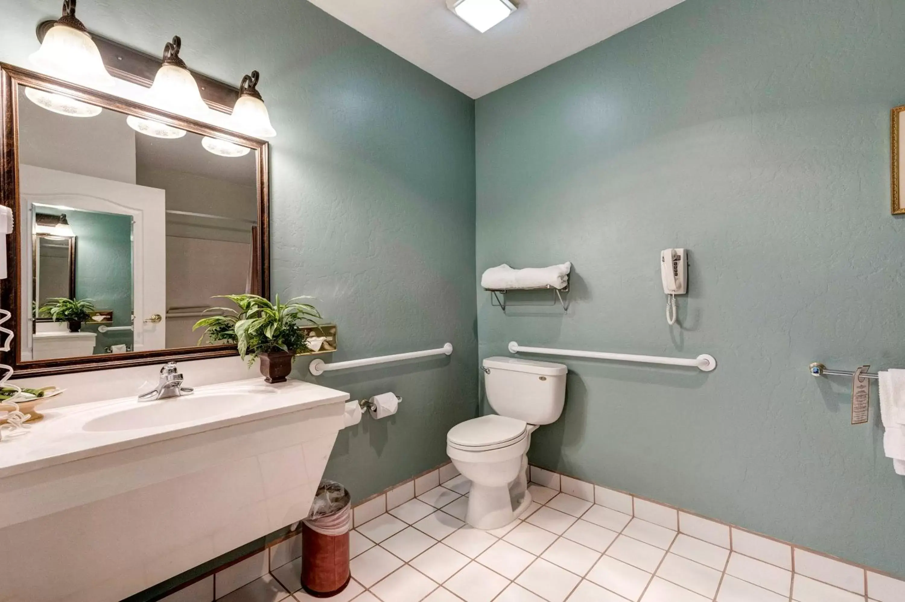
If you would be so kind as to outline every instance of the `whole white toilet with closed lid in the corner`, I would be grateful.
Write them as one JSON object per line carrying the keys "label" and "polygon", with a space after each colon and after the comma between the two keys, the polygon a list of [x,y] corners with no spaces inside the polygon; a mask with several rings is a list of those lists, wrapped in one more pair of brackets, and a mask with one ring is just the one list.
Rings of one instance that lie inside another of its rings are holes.
{"label": "whole white toilet with closed lid in the corner", "polygon": [[497,415],[455,425],[446,454],[472,482],[466,521],[497,529],[528,508],[528,448],[539,425],[556,422],[566,401],[567,367],[519,358],[486,358],[487,400]]}

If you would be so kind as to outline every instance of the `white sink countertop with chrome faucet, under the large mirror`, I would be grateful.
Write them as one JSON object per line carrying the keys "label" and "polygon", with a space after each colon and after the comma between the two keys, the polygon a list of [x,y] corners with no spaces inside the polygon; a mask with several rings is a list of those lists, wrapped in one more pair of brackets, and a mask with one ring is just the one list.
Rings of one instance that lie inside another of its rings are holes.
{"label": "white sink countertop with chrome faucet, under the large mirror", "polygon": [[158,401],[120,397],[39,407],[44,418],[30,433],[0,441],[0,478],[348,398],[348,393],[303,380],[269,385],[258,377],[196,387],[191,395]]}

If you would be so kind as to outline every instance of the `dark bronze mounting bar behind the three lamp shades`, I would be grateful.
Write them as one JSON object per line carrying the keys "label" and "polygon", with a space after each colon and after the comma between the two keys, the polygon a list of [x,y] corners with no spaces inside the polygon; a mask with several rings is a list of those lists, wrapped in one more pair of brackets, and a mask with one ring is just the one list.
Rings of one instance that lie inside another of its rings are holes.
{"label": "dark bronze mounting bar behind the three lamp shades", "polygon": [[[43,42],[44,34],[56,24],[55,20],[44,21],[39,24],[35,33],[38,42]],[[115,78],[137,83],[139,86],[150,88],[154,82],[154,76],[160,69],[160,57],[124,46],[97,33],[88,32],[100,52],[104,66]],[[208,107],[219,110],[227,115],[233,112],[235,101],[239,98],[239,89],[223,81],[214,80],[199,72],[192,71],[192,77],[198,82],[201,98]]]}

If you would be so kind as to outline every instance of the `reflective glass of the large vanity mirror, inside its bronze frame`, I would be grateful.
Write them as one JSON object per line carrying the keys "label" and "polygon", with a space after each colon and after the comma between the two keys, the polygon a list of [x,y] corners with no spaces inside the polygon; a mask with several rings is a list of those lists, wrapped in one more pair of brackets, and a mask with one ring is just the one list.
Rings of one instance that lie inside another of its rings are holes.
{"label": "reflective glass of the large vanity mirror, inside its bronze frame", "polygon": [[[90,354],[193,348],[195,321],[229,305],[215,295],[259,292],[256,152],[221,157],[201,135],[180,129],[176,138],[153,138],[116,110],[87,118],[52,113],[25,99],[24,88],[19,100],[24,282],[36,282],[41,269],[32,244],[36,215],[49,215],[42,218],[48,228],[65,215],[78,248],[75,291],[61,296],[90,299],[96,311],[76,333],[26,319],[23,309],[23,360],[81,356],[86,347]],[[22,307],[43,303],[41,290],[40,282],[23,287]],[[48,356],[35,350],[35,338],[50,337],[42,330],[54,332],[57,347],[64,337],[95,339],[79,352]]]}

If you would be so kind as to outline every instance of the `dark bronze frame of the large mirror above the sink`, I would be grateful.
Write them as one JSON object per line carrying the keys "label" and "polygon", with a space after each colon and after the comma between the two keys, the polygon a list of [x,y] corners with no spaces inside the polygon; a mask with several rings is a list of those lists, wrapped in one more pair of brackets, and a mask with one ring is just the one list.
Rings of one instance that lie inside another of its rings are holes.
{"label": "dark bronze frame of the large mirror above the sink", "polygon": [[[22,286],[31,286],[30,282],[22,282],[23,266],[20,264],[19,256],[20,244],[22,243],[20,238],[22,231],[18,227],[18,222],[21,219],[19,213],[18,160],[18,86],[20,85],[42,91],[62,93],[103,109],[115,110],[146,119],[156,119],[195,134],[228,140],[256,151],[258,158],[258,291],[262,297],[270,298],[270,182],[269,146],[267,142],[249,138],[201,121],[153,109],[134,100],[90,90],[68,81],[57,80],[42,73],[32,72],[0,62],[0,202],[13,210],[16,222],[13,234],[6,236],[6,258],[9,266],[9,277],[0,281],[0,307],[13,314],[12,318],[5,323],[5,328],[13,330],[17,334],[20,332],[19,300],[21,299]],[[252,242],[253,245],[254,242]],[[0,355],[0,363],[4,363],[15,370],[14,378],[128,368],[130,366],[146,366],[167,361],[223,358],[238,355],[234,345],[218,345],[216,347],[155,349],[152,351],[130,351],[129,353],[117,355],[103,354],[81,358],[22,361],[17,344],[18,340],[18,337],[14,338],[10,350],[4,351]]]}

